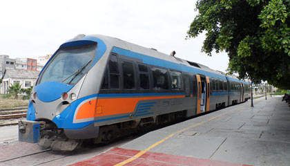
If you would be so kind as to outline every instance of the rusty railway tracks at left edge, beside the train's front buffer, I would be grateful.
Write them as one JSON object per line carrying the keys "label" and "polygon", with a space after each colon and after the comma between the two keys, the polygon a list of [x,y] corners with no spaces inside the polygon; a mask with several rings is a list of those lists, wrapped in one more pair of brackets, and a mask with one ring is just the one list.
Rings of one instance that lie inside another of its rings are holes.
{"label": "rusty railway tracks at left edge, beside the train's front buffer", "polygon": [[18,124],[18,120],[26,118],[27,109],[5,109],[0,111],[0,127]]}

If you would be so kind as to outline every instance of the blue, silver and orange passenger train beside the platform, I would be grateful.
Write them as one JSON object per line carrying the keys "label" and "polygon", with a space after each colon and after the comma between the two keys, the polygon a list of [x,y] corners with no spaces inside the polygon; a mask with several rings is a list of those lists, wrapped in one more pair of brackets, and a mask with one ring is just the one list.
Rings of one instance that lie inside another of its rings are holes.
{"label": "blue, silver and orange passenger train beside the platform", "polygon": [[[39,73],[26,120],[41,123],[39,145],[70,151],[83,140],[110,142],[245,102],[250,94],[249,82],[174,53],[115,37],[77,35]],[[25,131],[20,123],[19,131]]]}

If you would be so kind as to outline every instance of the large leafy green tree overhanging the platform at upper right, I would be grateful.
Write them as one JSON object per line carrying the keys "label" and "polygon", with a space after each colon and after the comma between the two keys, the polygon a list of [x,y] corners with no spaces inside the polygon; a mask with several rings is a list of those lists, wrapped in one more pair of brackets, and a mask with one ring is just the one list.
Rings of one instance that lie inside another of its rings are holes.
{"label": "large leafy green tree overhanging the platform at upper right", "polygon": [[186,39],[206,31],[202,51],[225,51],[228,73],[290,89],[290,0],[197,0]]}

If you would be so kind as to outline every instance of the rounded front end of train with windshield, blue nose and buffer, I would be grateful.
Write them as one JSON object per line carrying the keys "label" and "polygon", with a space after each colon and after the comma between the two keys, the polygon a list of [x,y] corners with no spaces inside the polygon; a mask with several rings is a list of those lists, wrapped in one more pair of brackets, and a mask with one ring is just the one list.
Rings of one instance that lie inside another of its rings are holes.
{"label": "rounded front end of train with windshield, blue nose and buffer", "polygon": [[19,121],[19,141],[71,151],[81,140],[97,137],[94,113],[101,79],[93,75],[101,73],[96,64],[105,52],[101,39],[84,35],[59,47],[32,90],[26,120]]}

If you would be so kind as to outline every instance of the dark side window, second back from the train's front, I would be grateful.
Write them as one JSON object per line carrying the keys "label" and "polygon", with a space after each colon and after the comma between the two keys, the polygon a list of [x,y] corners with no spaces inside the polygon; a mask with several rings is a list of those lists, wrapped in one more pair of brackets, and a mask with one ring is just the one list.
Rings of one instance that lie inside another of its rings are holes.
{"label": "dark side window, second back from the train's front", "polygon": [[133,62],[122,61],[124,89],[135,89],[135,75]]}

